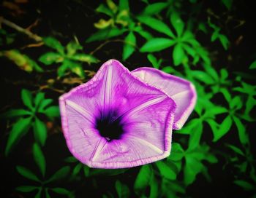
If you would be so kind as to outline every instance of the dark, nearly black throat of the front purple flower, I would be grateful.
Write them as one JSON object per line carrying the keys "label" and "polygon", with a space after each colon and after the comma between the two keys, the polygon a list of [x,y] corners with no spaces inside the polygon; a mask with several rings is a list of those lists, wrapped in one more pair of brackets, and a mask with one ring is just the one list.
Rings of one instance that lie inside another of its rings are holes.
{"label": "dark, nearly black throat of the front purple flower", "polygon": [[116,112],[109,113],[108,115],[102,115],[96,120],[96,128],[99,134],[106,138],[106,140],[120,140],[121,135],[124,133],[123,124],[121,119],[115,116]]}

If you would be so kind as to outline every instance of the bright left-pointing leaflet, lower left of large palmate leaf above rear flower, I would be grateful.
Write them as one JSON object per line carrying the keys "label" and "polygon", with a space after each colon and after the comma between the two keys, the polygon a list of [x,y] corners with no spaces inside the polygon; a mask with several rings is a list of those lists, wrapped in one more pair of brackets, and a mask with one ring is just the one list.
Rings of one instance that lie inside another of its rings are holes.
{"label": "bright left-pointing leaflet, lower left of large palmate leaf above rear flower", "polygon": [[175,44],[176,41],[165,38],[154,38],[146,42],[143,47],[140,48],[140,52],[158,52],[165,50],[166,48]]}

